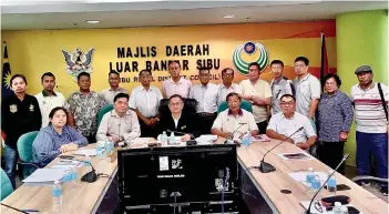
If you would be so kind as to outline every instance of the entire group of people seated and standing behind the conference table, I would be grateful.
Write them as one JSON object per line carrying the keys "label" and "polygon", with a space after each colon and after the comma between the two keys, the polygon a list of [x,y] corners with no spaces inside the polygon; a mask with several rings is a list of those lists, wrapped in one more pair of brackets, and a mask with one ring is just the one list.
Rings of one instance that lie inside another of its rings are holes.
{"label": "entire group of people seated and standing behind the conference table", "polygon": [[[234,83],[234,70],[226,68],[218,85],[209,82],[209,69],[201,68],[199,84],[192,85],[181,75],[180,61],[170,61],[171,79],[163,82],[162,91],[151,85],[152,72],[142,70],[141,85],[131,93],[120,86],[116,72],[109,73],[109,89],[94,92],[90,74],[83,72],[78,77],[80,90],[68,100],[54,92],[55,77],[50,72],[42,75],[43,91],[35,96],[25,93],[25,78],[16,74],[11,78],[14,94],[3,100],[1,106],[6,172],[14,184],[17,141],[23,133],[39,130],[33,142],[33,161],[41,166],[60,153],[88,143],[131,142],[170,130],[182,133],[183,141],[201,134],[240,137],[250,132],[285,140],[303,150],[316,144],[318,159],[335,169],[342,157],[355,112],[358,174],[370,173],[372,153],[378,176],[387,179],[387,86],[373,82],[372,69],[362,65],[355,71],[359,84],[352,86],[350,98],[339,90],[341,81],[337,74],[325,77],[321,93],[320,81],[308,72],[308,67],[307,58],[296,58],[297,77],[288,80],[283,75],[283,61],[274,60],[270,63],[274,79],[268,83],[259,78],[259,64],[253,62],[248,65],[247,80],[239,84]],[[163,100],[167,102],[167,114],[160,114]],[[252,112],[242,108],[243,100],[252,104]],[[194,112],[185,111],[187,101],[196,103]],[[113,110],[99,124],[99,112],[108,104]],[[228,109],[217,113],[222,104]],[[339,172],[344,173],[344,167]],[[382,194],[387,191],[381,188]]]}

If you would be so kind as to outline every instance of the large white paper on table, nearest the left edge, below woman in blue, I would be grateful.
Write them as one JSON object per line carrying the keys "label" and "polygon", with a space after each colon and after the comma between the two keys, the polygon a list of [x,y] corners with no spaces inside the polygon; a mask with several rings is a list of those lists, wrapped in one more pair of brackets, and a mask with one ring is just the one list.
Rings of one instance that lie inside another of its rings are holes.
{"label": "large white paper on table, nearest the left edge, below woman in blue", "polygon": [[24,183],[54,182],[62,180],[68,169],[38,169],[30,176],[24,179]]}

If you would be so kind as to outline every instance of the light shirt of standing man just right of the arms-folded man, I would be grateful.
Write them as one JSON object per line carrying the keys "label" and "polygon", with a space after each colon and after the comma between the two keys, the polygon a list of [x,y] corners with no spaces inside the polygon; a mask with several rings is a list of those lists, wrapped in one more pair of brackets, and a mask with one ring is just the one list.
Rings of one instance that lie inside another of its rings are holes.
{"label": "light shirt of standing man just right of the arms-folded man", "polygon": [[296,95],[295,86],[290,80],[281,77],[279,80],[273,79],[270,82],[272,88],[272,115],[280,112],[280,98],[284,94]]}

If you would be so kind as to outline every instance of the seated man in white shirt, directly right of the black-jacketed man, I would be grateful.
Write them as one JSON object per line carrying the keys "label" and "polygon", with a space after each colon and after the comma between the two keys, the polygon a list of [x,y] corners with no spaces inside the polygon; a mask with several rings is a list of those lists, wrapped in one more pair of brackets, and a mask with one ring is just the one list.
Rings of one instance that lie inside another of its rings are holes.
{"label": "seated man in white shirt, directly right of the black-jacketed man", "polygon": [[[258,126],[255,123],[254,115],[240,109],[242,98],[233,92],[226,98],[228,109],[221,112],[211,130],[212,134],[222,137],[240,137],[247,131],[252,135],[258,134]],[[234,132],[235,131],[235,132]]]}

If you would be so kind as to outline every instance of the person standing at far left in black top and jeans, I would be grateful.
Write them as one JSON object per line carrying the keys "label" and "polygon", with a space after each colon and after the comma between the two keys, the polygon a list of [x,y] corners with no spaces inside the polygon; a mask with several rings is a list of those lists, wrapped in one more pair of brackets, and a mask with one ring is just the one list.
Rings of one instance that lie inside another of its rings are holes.
{"label": "person standing at far left in black top and jeans", "polygon": [[14,94],[2,101],[1,129],[6,134],[6,173],[16,188],[14,171],[19,159],[18,139],[28,132],[39,131],[42,125],[42,115],[35,96],[25,93],[25,77],[16,74],[11,78],[10,83]]}

